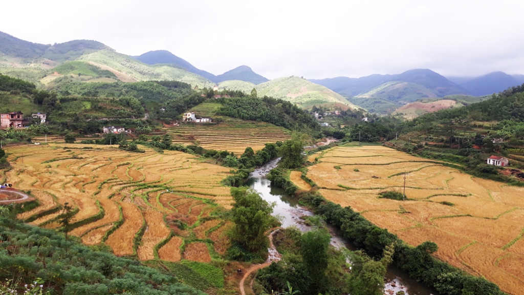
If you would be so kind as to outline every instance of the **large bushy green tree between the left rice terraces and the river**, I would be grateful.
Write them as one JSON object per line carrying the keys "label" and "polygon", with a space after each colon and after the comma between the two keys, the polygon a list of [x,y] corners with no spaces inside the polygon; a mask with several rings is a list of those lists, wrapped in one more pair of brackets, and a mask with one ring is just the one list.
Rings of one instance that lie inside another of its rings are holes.
{"label": "large bushy green tree between the left rice terraces and the river", "polygon": [[232,187],[231,195],[235,201],[231,209],[235,223],[231,239],[254,253],[267,249],[265,232],[271,223],[273,206],[247,187]]}

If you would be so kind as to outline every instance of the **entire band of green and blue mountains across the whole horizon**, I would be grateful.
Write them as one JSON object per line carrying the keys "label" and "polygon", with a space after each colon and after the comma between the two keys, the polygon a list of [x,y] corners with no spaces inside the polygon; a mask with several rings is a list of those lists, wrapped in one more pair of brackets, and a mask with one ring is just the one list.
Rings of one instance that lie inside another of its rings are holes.
{"label": "entire band of green and blue mountains across the whole horizon", "polygon": [[[467,104],[476,101],[471,96],[484,96],[524,83],[524,75],[493,72],[482,77],[447,79],[429,69],[413,69],[396,75],[308,81],[294,76],[268,80],[248,66],[240,66],[215,76],[166,50],[131,57],[93,40],[44,45],[2,32],[0,73],[34,82],[47,89],[67,82],[148,80],[176,80],[199,88],[218,85],[219,90],[246,93],[255,88],[259,96],[282,98],[303,108],[313,105],[361,107],[375,113],[391,113],[412,102],[428,99],[433,102],[450,95],[470,96],[464,102]],[[439,107],[447,105],[451,106],[451,103],[438,104]],[[407,112],[404,109],[402,113]]]}

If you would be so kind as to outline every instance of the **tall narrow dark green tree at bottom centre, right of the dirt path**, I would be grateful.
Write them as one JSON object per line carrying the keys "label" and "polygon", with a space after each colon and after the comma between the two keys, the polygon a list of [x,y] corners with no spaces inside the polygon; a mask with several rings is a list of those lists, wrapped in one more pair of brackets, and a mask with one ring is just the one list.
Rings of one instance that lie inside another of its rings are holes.
{"label": "tall narrow dark green tree at bottom centre, right of the dirt path", "polygon": [[309,270],[309,276],[314,278],[310,289],[315,292],[321,291],[325,285],[330,240],[330,234],[323,229],[311,230],[302,235],[301,254]]}

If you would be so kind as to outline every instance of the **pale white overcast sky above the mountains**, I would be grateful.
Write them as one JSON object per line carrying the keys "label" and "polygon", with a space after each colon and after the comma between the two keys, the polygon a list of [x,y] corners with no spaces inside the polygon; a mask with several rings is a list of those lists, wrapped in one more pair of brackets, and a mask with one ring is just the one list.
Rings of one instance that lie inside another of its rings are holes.
{"label": "pale white overcast sky above the mountains", "polygon": [[429,68],[524,74],[524,1],[2,1],[0,31],[91,39],[127,55],[171,51],[219,75],[362,77]]}

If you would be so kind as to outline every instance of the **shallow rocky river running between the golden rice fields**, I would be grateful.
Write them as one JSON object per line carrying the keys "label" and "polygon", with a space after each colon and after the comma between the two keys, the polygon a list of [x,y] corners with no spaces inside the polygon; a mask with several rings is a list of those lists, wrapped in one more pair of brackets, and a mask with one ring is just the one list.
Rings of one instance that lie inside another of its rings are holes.
{"label": "shallow rocky river running between the golden rice fields", "polygon": [[[266,178],[267,173],[277,166],[279,159],[273,160],[268,164],[258,167],[246,183],[249,187],[255,189],[262,198],[267,202],[275,203],[273,215],[280,216],[282,227],[296,226],[301,231],[308,231],[310,226],[303,224],[303,216],[314,216],[314,213],[298,204],[289,194],[281,188],[271,185],[271,182]],[[357,250],[357,248],[345,240],[338,234],[336,228],[328,227],[331,233],[331,245],[339,248],[345,247],[350,250]],[[430,289],[421,283],[409,278],[408,274],[396,267],[390,265],[386,272],[386,288],[384,293],[386,295],[397,294],[398,291],[404,291],[406,295],[439,295],[433,289]]]}

